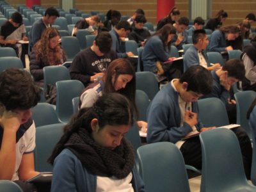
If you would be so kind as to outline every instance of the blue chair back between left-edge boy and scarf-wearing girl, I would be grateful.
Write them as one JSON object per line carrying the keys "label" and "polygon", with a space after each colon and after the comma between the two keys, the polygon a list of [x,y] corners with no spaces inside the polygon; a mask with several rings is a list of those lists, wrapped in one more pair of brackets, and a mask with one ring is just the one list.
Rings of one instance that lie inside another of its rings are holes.
{"label": "blue chair back between left-edge boy and scarf-wearing girl", "polygon": [[63,134],[65,124],[51,124],[36,127],[35,170],[52,172],[52,165],[47,163],[52,150]]}

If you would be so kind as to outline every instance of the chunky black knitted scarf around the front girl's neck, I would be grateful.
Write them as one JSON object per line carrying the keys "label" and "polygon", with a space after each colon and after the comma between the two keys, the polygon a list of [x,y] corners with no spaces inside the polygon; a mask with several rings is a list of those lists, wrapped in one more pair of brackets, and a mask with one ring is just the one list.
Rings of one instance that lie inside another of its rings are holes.
{"label": "chunky black knitted scarf around the front girl's neck", "polygon": [[95,143],[88,131],[81,127],[70,136],[65,147],[94,175],[124,179],[134,166],[134,151],[125,138],[120,146],[111,150]]}

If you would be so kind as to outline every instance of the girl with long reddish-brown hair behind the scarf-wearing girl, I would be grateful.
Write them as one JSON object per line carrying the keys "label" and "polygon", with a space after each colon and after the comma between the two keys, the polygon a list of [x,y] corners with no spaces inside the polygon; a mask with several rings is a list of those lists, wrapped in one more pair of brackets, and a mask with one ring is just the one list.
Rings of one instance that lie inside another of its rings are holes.
{"label": "girl with long reddish-brown hair behind the scarf-wearing girl", "polygon": [[[80,96],[81,108],[91,107],[99,97],[106,93],[113,92],[125,95],[136,109],[135,71],[131,63],[126,59],[112,61],[106,70],[106,74],[102,77],[102,80],[84,89]],[[138,121],[137,123],[138,127],[147,129],[147,122]]]}

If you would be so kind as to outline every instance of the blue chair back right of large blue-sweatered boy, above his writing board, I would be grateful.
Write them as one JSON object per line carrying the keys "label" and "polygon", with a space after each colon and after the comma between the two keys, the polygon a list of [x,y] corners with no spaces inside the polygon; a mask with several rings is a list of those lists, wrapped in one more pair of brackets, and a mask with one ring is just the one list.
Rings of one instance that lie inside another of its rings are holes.
{"label": "blue chair back right of large blue-sweatered boy, above his writing board", "polygon": [[205,127],[228,125],[227,110],[223,102],[216,98],[198,100],[199,118]]}

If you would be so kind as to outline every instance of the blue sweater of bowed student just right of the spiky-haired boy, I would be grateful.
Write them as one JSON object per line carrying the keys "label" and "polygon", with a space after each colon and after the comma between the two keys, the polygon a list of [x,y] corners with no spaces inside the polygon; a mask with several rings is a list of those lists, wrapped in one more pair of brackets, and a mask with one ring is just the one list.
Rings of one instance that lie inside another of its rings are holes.
{"label": "blue sweater of bowed student just right of the spiky-haired boy", "polygon": [[223,52],[227,47],[227,42],[225,38],[225,33],[220,30],[216,30],[212,32],[209,51],[215,52]]}

